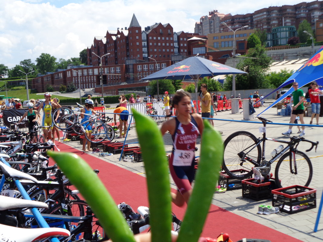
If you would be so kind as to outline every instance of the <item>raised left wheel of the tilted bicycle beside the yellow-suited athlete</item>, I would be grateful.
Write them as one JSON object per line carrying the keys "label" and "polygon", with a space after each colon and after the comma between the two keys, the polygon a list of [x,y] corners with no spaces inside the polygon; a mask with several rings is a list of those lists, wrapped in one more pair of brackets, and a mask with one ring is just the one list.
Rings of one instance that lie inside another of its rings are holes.
{"label": "raised left wheel of the tilted bicycle beside the yellow-suited athlete", "polygon": [[[59,117],[55,122],[54,117],[56,117],[57,114]],[[78,121],[76,114],[68,107],[57,108],[52,115],[54,126],[61,130],[70,129],[76,121]]]}

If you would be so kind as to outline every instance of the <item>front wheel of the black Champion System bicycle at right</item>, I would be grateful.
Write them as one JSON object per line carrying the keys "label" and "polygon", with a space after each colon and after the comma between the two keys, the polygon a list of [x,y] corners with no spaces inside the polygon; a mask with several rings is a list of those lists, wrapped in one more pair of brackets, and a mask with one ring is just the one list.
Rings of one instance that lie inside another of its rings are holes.
{"label": "front wheel of the black Champion System bicycle at right", "polygon": [[[275,180],[278,187],[294,185],[308,187],[312,175],[313,168],[310,159],[298,150],[287,152],[280,157],[275,169]],[[281,181],[279,182],[279,180]]]}

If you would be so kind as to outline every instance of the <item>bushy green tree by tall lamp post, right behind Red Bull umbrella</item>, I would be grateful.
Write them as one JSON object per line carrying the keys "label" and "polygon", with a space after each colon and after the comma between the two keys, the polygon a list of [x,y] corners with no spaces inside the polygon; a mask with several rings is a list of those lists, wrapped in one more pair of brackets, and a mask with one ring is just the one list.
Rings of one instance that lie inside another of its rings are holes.
{"label": "bushy green tree by tall lamp post, right behind Red Bull umbrella", "polygon": [[[236,90],[269,88],[265,76],[272,60],[266,55],[265,47],[260,44],[256,45],[255,48],[249,49],[246,57],[252,58],[245,58],[236,66],[237,69],[248,73],[235,75]],[[224,90],[232,90],[232,75],[226,76]]]}

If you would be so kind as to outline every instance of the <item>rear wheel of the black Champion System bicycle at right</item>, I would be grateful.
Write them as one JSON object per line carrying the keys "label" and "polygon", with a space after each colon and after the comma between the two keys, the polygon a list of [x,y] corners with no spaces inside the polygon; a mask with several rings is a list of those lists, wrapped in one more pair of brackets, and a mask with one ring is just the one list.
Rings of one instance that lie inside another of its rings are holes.
{"label": "rear wheel of the black Champion System bicycle at right", "polygon": [[[261,162],[261,146],[253,134],[246,131],[238,131],[231,134],[224,141],[222,168],[232,178],[244,179],[252,174],[252,167],[255,166],[255,164],[246,160],[245,157],[253,159],[259,165]],[[232,172],[239,169],[243,169],[247,173]]]}

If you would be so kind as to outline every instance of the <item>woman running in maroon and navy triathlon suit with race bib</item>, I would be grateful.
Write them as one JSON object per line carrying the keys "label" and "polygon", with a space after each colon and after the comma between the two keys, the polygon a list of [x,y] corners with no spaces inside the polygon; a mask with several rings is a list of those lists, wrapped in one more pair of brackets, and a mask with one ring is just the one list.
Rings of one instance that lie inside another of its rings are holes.
{"label": "woman running in maroon and navy triathlon suit with race bib", "polygon": [[[178,188],[172,193],[172,202],[182,207],[192,194],[191,183],[194,178],[195,142],[203,132],[203,121],[198,114],[191,114],[191,96],[185,91],[176,92],[172,107],[177,117],[170,119],[161,127],[161,134],[167,131],[172,135],[173,151],[169,159],[172,178]],[[172,109],[171,113],[172,115]]]}

